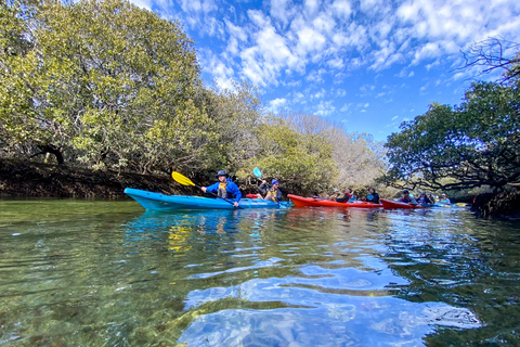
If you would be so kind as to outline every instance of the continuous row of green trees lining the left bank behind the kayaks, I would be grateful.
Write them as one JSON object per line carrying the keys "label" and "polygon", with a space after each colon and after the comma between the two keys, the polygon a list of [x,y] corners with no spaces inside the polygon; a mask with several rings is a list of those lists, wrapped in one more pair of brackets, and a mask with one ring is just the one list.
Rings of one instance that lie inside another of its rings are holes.
{"label": "continuous row of green trees lining the left bank behind the kayaks", "polygon": [[202,181],[259,166],[301,193],[385,167],[365,137],[265,115],[255,86],[206,88],[179,23],[127,1],[8,0],[0,14],[1,156]]}

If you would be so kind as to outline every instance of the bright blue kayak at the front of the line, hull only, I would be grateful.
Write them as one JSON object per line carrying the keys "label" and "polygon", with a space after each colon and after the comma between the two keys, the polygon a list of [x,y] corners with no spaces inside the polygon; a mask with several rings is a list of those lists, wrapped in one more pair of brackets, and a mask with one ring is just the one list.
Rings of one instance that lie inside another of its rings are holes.
{"label": "bright blue kayak at the front of the line, hull only", "polygon": [[[232,203],[223,198],[210,198],[191,195],[165,195],[126,188],[125,193],[140,203],[146,209],[237,209]],[[280,208],[283,203],[265,201],[263,198],[242,198],[238,203],[242,208]]]}

